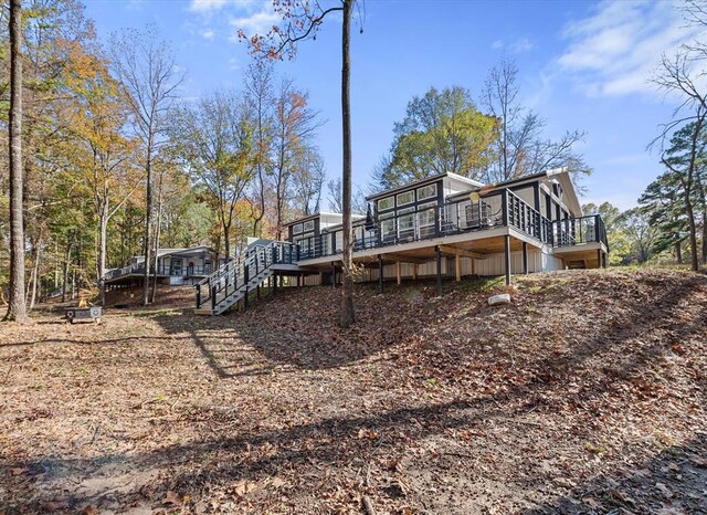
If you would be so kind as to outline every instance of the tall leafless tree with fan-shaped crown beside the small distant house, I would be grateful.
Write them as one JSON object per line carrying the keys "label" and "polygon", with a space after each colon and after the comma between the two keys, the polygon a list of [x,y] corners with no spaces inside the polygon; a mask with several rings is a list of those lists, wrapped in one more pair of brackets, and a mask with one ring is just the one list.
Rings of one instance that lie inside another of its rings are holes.
{"label": "tall leafless tree with fan-shaped crown beside the small distant house", "polygon": [[[173,53],[155,25],[145,30],[125,29],[110,39],[114,72],[124,85],[134,115],[136,134],[143,140],[145,187],[145,273],[143,303],[149,298],[149,265],[152,217],[152,162],[163,143],[165,122],[183,81]],[[157,274],[157,252],[154,266]],[[157,277],[155,277],[157,281]]]}

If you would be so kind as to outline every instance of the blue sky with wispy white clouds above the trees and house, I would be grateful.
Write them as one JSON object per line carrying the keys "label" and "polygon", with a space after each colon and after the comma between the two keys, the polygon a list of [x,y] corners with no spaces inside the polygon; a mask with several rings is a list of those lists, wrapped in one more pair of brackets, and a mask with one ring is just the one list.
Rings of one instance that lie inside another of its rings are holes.
{"label": "blue sky with wispy white clouds above the trees and house", "polygon": [[[326,0],[325,0],[326,1]],[[184,97],[240,87],[249,55],[239,28],[264,32],[276,17],[261,0],[86,0],[99,38],[156,23],[186,70]],[[513,57],[524,103],[546,136],[587,133],[578,149],[594,174],[582,202],[626,209],[661,172],[646,151],[674,99],[648,83],[661,53],[694,36],[668,1],[367,0],[352,35],[354,182],[365,188],[413,95],[461,85],[478,98],[488,69]],[[340,20],[323,25],[295,61],[277,63],[327,120],[318,146],[328,175],[341,169]]]}

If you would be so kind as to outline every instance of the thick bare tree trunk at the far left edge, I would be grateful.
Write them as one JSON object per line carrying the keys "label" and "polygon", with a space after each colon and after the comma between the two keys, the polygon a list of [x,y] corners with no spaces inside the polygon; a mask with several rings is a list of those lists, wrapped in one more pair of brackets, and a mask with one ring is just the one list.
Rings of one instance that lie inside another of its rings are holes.
{"label": "thick bare tree trunk at the far left edge", "polygon": [[6,320],[25,322],[22,191],[22,6],[10,1],[10,304]]}

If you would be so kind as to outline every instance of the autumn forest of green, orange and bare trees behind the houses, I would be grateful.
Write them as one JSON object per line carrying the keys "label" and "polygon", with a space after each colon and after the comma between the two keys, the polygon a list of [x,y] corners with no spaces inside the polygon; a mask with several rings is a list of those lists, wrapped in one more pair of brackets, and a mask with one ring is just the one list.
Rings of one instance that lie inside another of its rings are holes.
{"label": "autumn forest of green, orange and bare trees behind the houses", "polygon": [[[158,248],[204,244],[226,258],[247,237],[283,238],[283,223],[318,210],[342,211],[341,178],[317,147],[326,120],[308,93],[254,57],[240,86],[183,97],[186,80],[157,27],[99,39],[77,0],[24,2],[19,57],[25,299],[97,291],[106,270]],[[698,10],[690,23],[704,24]],[[2,11],[0,102],[10,132],[9,10]],[[707,260],[707,109],[695,42],[663,57],[659,88],[684,99],[652,145],[665,172],[637,207],[587,204],[609,228],[612,264]],[[697,64],[697,66],[696,66]],[[468,88],[430,88],[408,103],[367,193],[440,172],[494,183],[568,167],[578,187],[591,174],[576,150],[584,133],[548,138],[547,120],[523,105],[518,67],[504,59],[476,99]],[[8,147],[0,166],[0,301],[10,276]],[[366,171],[366,170],[365,170]],[[149,261],[149,260],[148,260]],[[145,297],[150,302],[155,295]]]}

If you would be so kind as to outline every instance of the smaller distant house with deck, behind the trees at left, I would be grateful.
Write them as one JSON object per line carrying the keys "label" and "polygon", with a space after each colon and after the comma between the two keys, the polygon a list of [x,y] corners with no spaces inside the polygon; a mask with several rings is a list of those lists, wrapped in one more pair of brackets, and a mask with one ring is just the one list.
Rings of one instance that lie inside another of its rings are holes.
{"label": "smaller distant house with deck, behind the trees at left", "polygon": [[[214,266],[214,251],[203,245],[188,249],[158,249],[157,278],[162,284],[196,284],[219,267]],[[150,273],[154,273],[151,263]],[[104,281],[110,288],[139,283],[144,275],[145,256],[135,255],[126,266],[108,270]]]}

